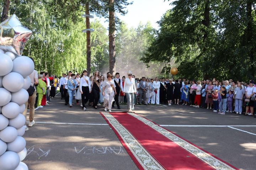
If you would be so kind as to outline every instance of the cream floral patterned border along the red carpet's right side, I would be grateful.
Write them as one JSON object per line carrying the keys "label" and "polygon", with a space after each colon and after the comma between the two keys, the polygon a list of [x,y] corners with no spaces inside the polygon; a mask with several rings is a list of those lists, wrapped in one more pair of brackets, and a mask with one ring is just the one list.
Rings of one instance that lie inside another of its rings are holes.
{"label": "cream floral patterned border along the red carpet's right side", "polygon": [[156,125],[152,121],[143,118],[142,116],[135,114],[133,112],[127,112],[128,114],[132,115],[133,117],[139,119],[146,125],[150,126],[152,129],[158,131],[160,134],[164,135],[168,139],[170,139],[172,142],[176,143],[178,146],[182,147],[186,151],[190,152],[194,156],[196,156],[198,159],[202,160],[212,168],[216,170],[238,170],[236,168],[231,167],[230,165],[224,163],[222,160],[219,160],[212,155],[204,152],[202,149],[192,145],[191,143],[183,140],[181,137],[178,137],[177,135],[171,133],[170,131],[160,127],[159,125]]}

